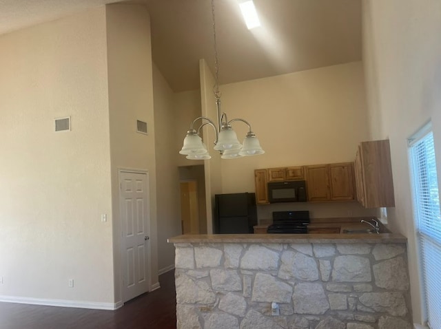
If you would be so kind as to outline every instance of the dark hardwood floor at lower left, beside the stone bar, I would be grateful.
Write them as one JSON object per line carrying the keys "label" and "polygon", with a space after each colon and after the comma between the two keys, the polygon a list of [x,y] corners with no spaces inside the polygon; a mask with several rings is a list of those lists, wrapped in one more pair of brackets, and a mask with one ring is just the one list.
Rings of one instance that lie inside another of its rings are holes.
{"label": "dark hardwood floor at lower left, beside the stone bar", "polygon": [[118,310],[87,310],[0,302],[0,329],[176,328],[174,270],[159,276],[161,288]]}

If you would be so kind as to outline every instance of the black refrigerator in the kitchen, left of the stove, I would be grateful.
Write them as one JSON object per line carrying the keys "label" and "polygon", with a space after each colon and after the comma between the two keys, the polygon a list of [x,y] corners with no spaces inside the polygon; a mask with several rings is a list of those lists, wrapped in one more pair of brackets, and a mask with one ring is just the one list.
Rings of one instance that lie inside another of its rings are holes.
{"label": "black refrigerator in the kitchen, left of the stove", "polygon": [[214,233],[253,233],[257,224],[255,193],[229,193],[215,195]]}

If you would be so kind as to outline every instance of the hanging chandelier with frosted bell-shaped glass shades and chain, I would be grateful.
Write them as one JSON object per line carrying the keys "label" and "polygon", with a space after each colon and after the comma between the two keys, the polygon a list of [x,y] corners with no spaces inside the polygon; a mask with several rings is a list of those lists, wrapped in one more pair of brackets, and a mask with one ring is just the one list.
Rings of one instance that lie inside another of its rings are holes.
{"label": "hanging chandelier with frosted bell-shaped glass shades and chain", "polygon": [[[205,160],[212,158],[205,146],[200,133],[205,125],[213,127],[216,140],[214,140],[214,149],[219,151],[223,159],[240,158],[242,156],[256,156],[263,154],[262,147],[260,147],[259,140],[256,134],[251,129],[251,125],[242,119],[234,118],[232,120],[227,119],[225,112],[220,112],[220,92],[218,85],[219,75],[219,61],[216,46],[216,19],[214,15],[214,0],[212,0],[212,19],[213,19],[213,36],[214,36],[214,68],[215,68],[215,84],[213,88],[214,98],[216,100],[217,120],[214,123],[213,120],[206,116],[198,116],[192,121],[190,129],[187,131],[187,136],[184,138],[183,147],[179,153],[186,156],[189,160]],[[196,122],[201,121],[197,129],[195,129]],[[232,123],[240,121],[248,126],[248,132],[243,140],[243,144],[237,139],[236,132],[232,129]]]}

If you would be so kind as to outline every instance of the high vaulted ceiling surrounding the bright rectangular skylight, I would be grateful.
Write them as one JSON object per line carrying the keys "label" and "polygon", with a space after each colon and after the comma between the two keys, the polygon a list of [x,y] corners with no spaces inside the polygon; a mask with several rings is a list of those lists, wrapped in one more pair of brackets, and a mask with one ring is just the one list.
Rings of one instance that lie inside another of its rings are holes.
{"label": "high vaulted ceiling surrounding the bright rectangular skylight", "polygon": [[[0,0],[0,34],[121,0]],[[216,0],[219,82],[361,60],[361,0],[254,0],[247,30],[239,0]],[[175,92],[198,89],[198,60],[214,68],[209,0],[133,0],[150,12],[154,63]],[[214,70],[214,69],[213,69]]]}

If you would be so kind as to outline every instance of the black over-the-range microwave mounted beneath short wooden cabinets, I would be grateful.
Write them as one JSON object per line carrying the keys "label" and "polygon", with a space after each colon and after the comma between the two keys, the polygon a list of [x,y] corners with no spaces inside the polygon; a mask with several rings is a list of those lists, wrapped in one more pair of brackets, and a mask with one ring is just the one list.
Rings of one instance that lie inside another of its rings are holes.
{"label": "black over-the-range microwave mounted beneath short wooden cabinets", "polygon": [[289,180],[285,182],[269,182],[268,200],[274,202],[305,202],[305,180]]}

